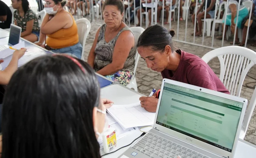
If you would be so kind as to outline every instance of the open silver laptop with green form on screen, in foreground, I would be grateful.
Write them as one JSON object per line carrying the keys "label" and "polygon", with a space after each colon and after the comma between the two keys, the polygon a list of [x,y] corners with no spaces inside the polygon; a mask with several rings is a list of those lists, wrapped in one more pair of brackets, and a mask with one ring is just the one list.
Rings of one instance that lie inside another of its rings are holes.
{"label": "open silver laptop with green form on screen, in foreground", "polygon": [[233,158],[247,100],[163,79],[153,129],[120,158]]}

